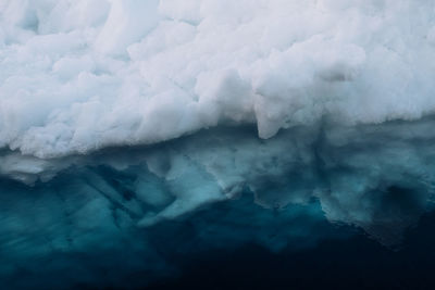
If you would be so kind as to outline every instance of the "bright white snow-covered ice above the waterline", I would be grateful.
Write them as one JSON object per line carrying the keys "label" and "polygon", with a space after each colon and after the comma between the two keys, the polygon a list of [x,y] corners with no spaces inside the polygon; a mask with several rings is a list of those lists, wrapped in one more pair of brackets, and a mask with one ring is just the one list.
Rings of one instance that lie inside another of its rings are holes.
{"label": "bright white snow-covered ice above the waterline", "polygon": [[50,157],[219,124],[270,138],[324,116],[420,118],[435,110],[434,13],[430,0],[1,1],[0,148]]}

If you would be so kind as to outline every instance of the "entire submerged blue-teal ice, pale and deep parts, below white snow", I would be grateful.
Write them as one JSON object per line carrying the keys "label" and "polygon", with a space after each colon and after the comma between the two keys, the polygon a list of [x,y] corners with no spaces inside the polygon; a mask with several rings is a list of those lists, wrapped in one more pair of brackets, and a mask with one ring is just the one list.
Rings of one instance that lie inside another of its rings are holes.
{"label": "entire submerged blue-teal ice, pale and deep parts, below white snow", "polygon": [[395,247],[433,210],[433,124],[324,122],[268,140],[252,126],[215,128],[53,160],[3,151],[0,281],[139,287],[201,251],[281,253],[355,235],[326,222]]}

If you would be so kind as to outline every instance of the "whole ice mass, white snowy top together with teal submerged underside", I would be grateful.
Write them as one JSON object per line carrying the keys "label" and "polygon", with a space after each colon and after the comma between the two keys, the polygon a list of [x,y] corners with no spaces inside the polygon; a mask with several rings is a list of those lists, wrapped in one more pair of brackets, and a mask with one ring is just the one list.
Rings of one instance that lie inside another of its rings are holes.
{"label": "whole ice mass, white snowy top together with teal submerged underside", "polygon": [[0,281],[94,250],[159,273],[152,232],[191,214],[207,247],[312,244],[323,217],[397,244],[434,193],[434,14],[431,0],[0,0]]}

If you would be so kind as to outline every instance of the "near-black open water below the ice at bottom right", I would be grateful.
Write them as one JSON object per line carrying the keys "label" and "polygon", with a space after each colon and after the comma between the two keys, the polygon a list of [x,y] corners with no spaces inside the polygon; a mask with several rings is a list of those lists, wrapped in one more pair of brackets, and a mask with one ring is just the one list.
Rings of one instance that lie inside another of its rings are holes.
{"label": "near-black open water below the ice at bottom right", "polygon": [[400,249],[356,234],[300,251],[288,247],[274,253],[249,243],[232,251],[202,252],[177,260],[183,268],[179,277],[146,289],[434,289],[434,226],[435,214],[423,216],[407,231]]}

